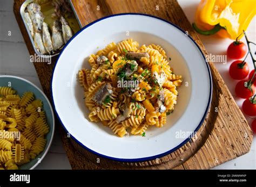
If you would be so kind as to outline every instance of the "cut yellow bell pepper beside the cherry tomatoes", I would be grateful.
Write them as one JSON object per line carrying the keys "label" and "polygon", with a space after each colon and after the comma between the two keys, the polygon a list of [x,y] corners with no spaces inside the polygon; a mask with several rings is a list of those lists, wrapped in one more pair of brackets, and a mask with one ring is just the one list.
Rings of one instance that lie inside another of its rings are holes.
{"label": "cut yellow bell pepper beside the cherry tomatoes", "polygon": [[193,27],[200,34],[234,40],[242,37],[255,13],[255,0],[201,0]]}

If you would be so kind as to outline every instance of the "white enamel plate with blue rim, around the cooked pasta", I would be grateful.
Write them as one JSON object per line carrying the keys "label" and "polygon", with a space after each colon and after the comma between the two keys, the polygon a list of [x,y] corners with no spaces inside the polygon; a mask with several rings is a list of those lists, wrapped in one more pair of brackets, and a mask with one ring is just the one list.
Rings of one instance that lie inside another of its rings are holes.
{"label": "white enamel plate with blue rim, around the cooked pasta", "polygon": [[[88,57],[110,42],[132,38],[143,44],[161,45],[183,85],[174,112],[162,128],[150,126],[146,136],[119,138],[109,127],[92,123],[84,106],[78,70],[89,68]],[[160,158],[183,146],[203,123],[211,102],[212,81],[199,47],[177,26],[149,15],[121,14],[99,19],[80,30],[60,53],[52,78],[57,115],[72,138],[92,153],[123,162]]]}

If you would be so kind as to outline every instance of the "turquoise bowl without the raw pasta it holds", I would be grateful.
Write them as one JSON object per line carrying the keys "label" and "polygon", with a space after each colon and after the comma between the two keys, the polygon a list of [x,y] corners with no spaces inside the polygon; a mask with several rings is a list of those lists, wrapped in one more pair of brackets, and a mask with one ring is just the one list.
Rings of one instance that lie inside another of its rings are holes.
{"label": "turquoise bowl without the raw pasta it holds", "polygon": [[46,146],[43,152],[41,152],[35,159],[31,160],[29,163],[19,166],[19,169],[34,169],[47,154],[51,142],[53,139],[53,132],[55,129],[55,119],[51,103],[49,99],[45,96],[44,92],[40,90],[35,84],[21,77],[0,75],[0,87],[12,87],[16,90],[16,94],[22,96],[25,91],[31,91],[34,93],[35,99],[41,99],[43,102],[43,110],[46,114],[47,124],[49,125],[49,132],[46,134]]}

